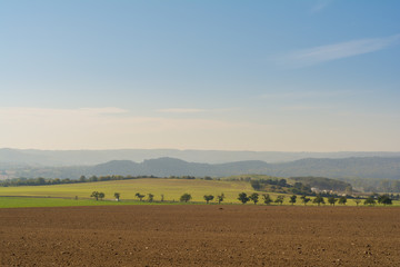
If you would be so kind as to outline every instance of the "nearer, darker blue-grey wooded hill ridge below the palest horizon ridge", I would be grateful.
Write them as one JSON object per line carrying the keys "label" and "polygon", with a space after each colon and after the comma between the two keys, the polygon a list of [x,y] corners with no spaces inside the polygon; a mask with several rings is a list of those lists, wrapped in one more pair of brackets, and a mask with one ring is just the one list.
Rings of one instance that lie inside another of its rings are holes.
{"label": "nearer, darker blue-grey wooded hill ridge below the palest horizon ridge", "polygon": [[174,158],[149,159],[143,162],[112,160],[96,166],[78,167],[20,167],[14,177],[79,178],[104,175],[152,175],[224,177],[254,174],[276,177],[328,177],[328,178],[389,178],[400,179],[400,157],[397,158],[346,158],[346,159],[300,159],[283,164],[267,164],[260,160],[236,161],[228,164],[198,164]]}

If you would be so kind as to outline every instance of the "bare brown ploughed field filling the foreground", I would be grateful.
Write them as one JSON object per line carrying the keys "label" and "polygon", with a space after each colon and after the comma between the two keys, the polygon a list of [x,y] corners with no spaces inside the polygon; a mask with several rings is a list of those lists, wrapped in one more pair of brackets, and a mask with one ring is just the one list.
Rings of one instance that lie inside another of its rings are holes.
{"label": "bare brown ploughed field filling the foreground", "polygon": [[400,266],[400,209],[0,209],[0,266]]}

